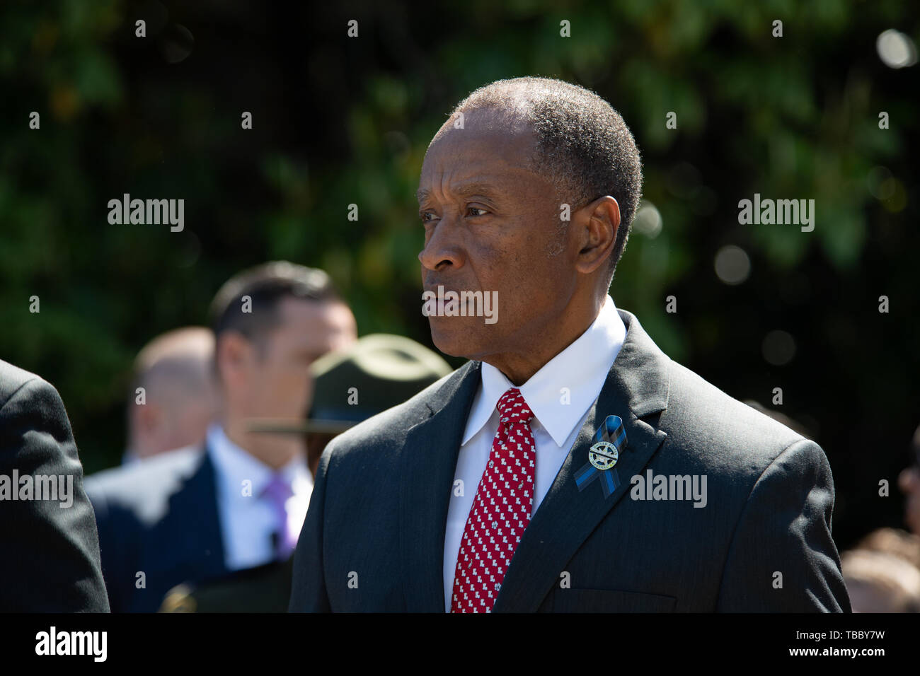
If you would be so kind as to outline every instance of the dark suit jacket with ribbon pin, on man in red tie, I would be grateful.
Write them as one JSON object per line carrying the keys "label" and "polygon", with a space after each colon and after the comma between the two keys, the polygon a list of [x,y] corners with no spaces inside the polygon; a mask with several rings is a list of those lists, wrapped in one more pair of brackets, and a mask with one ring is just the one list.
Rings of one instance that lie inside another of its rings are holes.
{"label": "dark suit jacket with ribbon pin, on man in red tie", "polygon": [[[850,611],[822,449],[670,360],[619,313],[625,343],[494,611]],[[444,612],[444,524],[479,366],[329,444],[294,555],[291,611]],[[628,445],[622,483],[604,498],[597,482],[580,492],[574,474],[608,415],[623,418]],[[633,499],[630,478],[648,469],[707,475],[707,506]]]}

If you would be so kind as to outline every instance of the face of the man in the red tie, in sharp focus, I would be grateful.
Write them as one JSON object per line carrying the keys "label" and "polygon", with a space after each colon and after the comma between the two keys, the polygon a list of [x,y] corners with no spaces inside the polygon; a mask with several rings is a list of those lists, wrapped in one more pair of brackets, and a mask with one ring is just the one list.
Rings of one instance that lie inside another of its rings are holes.
{"label": "face of the man in the red tie, in sharp focus", "polygon": [[576,281],[577,251],[560,234],[556,187],[526,168],[533,133],[490,128],[497,120],[494,111],[477,110],[466,114],[465,129],[445,125],[419,182],[424,289],[498,292],[494,324],[482,316],[430,315],[431,338],[447,354],[482,361],[538,343]]}

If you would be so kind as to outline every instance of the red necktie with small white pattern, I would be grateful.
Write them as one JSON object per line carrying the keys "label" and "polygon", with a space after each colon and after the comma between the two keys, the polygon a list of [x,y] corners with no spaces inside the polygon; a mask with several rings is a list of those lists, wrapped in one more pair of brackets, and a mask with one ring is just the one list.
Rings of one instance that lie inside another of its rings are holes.
{"label": "red necktie with small white pattern", "polygon": [[499,430],[460,541],[451,613],[492,611],[534,505],[536,445],[528,424],[534,413],[517,387],[496,408]]}

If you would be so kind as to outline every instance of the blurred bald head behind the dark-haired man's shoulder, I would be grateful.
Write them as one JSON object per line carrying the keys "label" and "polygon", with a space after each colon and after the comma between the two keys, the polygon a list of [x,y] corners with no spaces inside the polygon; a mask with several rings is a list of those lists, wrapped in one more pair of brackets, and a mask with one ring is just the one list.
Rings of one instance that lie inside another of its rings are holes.
{"label": "blurred bald head behind the dark-haired man's shoulder", "polygon": [[138,353],[128,405],[130,453],[143,459],[204,441],[216,407],[213,356],[213,333],[204,327],[169,331]]}

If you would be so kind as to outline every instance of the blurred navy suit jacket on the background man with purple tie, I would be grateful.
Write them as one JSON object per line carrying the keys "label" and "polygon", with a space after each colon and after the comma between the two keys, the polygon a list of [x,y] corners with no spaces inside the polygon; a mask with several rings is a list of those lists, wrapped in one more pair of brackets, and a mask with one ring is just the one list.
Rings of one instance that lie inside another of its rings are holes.
{"label": "blurred navy suit jacket on the background man with purple tie", "polygon": [[155,613],[174,586],[228,572],[208,453],[181,450],[106,470],[86,477],[86,492],[113,613]]}

